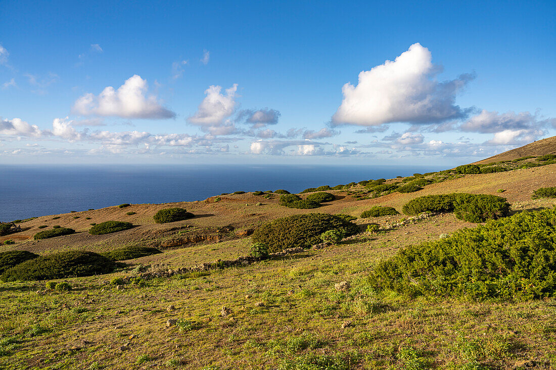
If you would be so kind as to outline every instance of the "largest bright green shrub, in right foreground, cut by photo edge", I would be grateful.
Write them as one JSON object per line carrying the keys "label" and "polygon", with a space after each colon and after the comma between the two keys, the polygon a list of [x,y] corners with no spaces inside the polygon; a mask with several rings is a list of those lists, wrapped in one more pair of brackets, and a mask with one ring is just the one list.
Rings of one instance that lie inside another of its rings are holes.
{"label": "largest bright green shrub, in right foreground, cut by photo edge", "polygon": [[525,301],[556,292],[556,210],[522,212],[400,249],[370,276],[409,296]]}

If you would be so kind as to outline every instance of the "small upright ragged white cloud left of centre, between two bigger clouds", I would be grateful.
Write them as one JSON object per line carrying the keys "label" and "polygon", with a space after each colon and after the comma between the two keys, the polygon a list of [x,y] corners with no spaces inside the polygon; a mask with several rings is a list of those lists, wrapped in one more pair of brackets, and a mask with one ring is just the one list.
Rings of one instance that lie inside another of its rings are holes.
{"label": "small upright ragged white cloud left of centre, between two bigger clouds", "polygon": [[224,120],[230,117],[236,107],[235,97],[237,83],[226,89],[226,94],[221,94],[221,86],[211,85],[205,90],[206,97],[197,108],[197,112],[187,119],[188,122],[204,128],[221,126]]}

